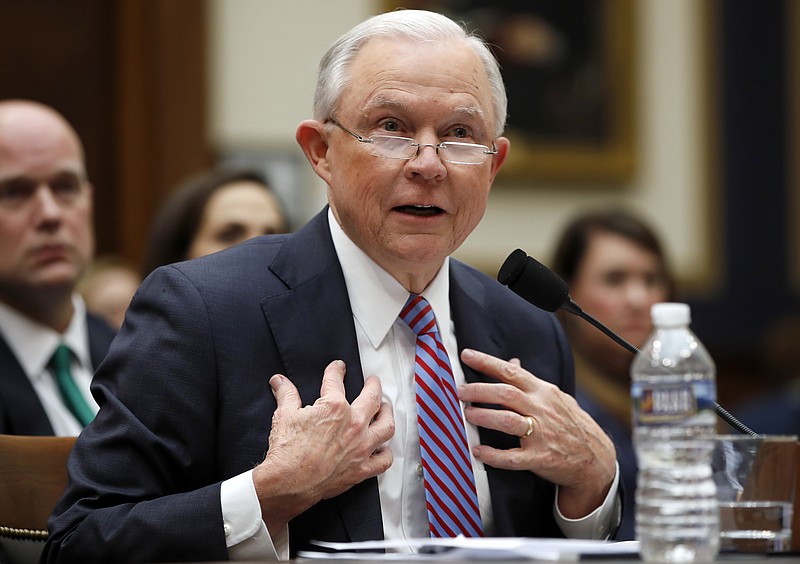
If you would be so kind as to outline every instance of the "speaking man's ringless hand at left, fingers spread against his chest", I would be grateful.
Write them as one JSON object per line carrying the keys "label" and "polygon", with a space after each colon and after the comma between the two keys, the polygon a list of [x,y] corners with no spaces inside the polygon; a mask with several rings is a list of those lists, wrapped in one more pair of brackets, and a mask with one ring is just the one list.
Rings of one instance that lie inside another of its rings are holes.
{"label": "speaking man's ringless hand at left, fingers spread against his chest", "polygon": [[320,500],[392,465],[392,452],[385,445],[394,435],[394,416],[382,401],[380,380],[367,378],[351,405],[345,397],[344,374],[344,362],[331,362],[322,377],[319,399],[306,407],[288,378],[281,374],[270,378],[278,407],[269,450],[253,470],[253,482],[272,534]]}

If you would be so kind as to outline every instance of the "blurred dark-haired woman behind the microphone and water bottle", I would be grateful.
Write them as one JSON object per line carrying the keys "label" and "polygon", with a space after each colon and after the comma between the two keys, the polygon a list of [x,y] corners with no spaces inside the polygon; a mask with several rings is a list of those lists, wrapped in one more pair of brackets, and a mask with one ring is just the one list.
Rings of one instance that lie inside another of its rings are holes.
{"label": "blurred dark-haired woman behind the microphone and water bottle", "polygon": [[[589,211],[564,229],[552,269],[583,310],[641,347],[653,326],[650,307],[673,299],[674,282],[655,232],[623,209]],[[597,328],[559,312],[575,358],[577,399],[617,446],[625,508],[618,540],[634,535],[636,455],[631,440],[633,355]]]}

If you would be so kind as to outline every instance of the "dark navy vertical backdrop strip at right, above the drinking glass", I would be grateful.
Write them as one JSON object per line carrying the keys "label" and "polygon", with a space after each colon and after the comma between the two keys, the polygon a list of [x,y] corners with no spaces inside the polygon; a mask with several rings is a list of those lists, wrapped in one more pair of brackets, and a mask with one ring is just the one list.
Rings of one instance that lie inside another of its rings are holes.
{"label": "dark navy vertical backdrop strip at right, above the drinking glass", "polygon": [[[765,372],[768,330],[800,311],[789,257],[791,30],[787,2],[714,0],[717,44],[716,179],[722,217],[723,285],[713,296],[689,297],[693,327],[719,365],[720,398],[757,393]],[[800,335],[798,335],[800,337]],[[800,342],[798,343],[800,347]]]}

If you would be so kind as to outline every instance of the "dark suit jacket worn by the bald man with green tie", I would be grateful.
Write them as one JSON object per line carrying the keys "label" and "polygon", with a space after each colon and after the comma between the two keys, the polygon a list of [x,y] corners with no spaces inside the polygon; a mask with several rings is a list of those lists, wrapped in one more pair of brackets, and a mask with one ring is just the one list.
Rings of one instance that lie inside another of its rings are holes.
{"label": "dark suit jacket worn by the bald man with green tie", "polygon": [[[87,315],[89,355],[97,367],[114,339],[114,330],[94,315]],[[0,433],[52,435],[53,427],[17,357],[0,337]]]}

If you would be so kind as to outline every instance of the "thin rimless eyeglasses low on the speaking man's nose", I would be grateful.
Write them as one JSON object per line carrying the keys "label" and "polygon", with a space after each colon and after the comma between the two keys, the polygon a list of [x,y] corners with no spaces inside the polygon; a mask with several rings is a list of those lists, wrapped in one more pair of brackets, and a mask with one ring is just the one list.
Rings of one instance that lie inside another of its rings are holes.
{"label": "thin rimless eyeglasses low on the speaking man's nose", "polygon": [[481,164],[486,161],[488,155],[496,155],[497,147],[492,142],[490,149],[486,145],[477,143],[458,143],[454,141],[444,141],[438,145],[432,143],[417,143],[416,140],[408,137],[397,137],[394,135],[370,135],[362,137],[358,133],[353,133],[334,118],[329,118],[333,125],[349,133],[359,143],[369,143],[372,145],[372,154],[376,157],[387,159],[409,160],[419,154],[423,147],[433,147],[436,154],[448,163],[453,164]]}

